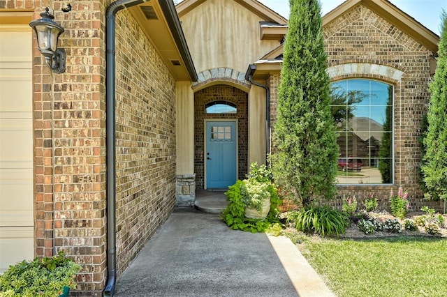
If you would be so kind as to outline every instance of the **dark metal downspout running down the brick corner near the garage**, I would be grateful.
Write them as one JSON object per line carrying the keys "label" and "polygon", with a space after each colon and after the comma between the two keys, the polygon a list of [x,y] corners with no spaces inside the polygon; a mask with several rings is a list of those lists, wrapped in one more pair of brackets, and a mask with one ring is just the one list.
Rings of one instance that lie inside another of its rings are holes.
{"label": "dark metal downspout running down the brick corner near the garage", "polygon": [[105,98],[107,139],[107,261],[108,282],[103,296],[113,296],[117,275],[116,257],[116,127],[115,127],[115,15],[119,10],[146,2],[145,0],[117,0],[110,3],[105,13]]}

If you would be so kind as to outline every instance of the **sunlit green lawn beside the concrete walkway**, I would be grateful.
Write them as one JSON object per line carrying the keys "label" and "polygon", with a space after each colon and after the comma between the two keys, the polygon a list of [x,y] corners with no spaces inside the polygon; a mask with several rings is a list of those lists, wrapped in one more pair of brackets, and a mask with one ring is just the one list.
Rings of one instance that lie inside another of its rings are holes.
{"label": "sunlit green lawn beside the concrete walkway", "polygon": [[339,297],[447,296],[446,238],[312,237],[300,250]]}

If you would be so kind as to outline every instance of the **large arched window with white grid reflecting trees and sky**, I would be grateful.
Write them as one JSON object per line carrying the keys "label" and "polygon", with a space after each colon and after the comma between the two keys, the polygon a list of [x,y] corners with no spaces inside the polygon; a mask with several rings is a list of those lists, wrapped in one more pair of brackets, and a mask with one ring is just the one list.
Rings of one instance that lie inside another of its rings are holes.
{"label": "large arched window with white grid reflecting trees and sky", "polygon": [[393,86],[371,79],[333,82],[338,183],[393,183]]}

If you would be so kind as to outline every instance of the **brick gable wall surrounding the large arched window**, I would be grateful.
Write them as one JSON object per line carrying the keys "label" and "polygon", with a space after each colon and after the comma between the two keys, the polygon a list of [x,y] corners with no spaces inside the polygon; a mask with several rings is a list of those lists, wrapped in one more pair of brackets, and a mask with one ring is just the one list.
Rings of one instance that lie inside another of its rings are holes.
{"label": "brick gable wall surrounding the large arched window", "polygon": [[[400,80],[386,73],[374,72],[331,77],[332,82],[353,77],[377,79],[395,88],[395,185],[340,185],[339,195],[356,195],[365,199],[367,195],[375,194],[386,201],[391,188],[397,189],[402,185],[404,190],[409,191],[415,210],[420,208],[420,204],[431,204],[441,210],[441,203],[422,200],[417,173],[420,166],[420,123],[430,100],[427,86],[431,78],[432,52],[362,5],[325,25],[323,34],[328,66],[370,63],[404,72]],[[277,75],[270,77],[270,80],[279,84]],[[272,94],[274,100],[277,100],[277,94]],[[273,106],[275,104],[272,102]],[[272,121],[275,117],[276,113],[272,112]],[[386,202],[383,205],[387,205]]]}

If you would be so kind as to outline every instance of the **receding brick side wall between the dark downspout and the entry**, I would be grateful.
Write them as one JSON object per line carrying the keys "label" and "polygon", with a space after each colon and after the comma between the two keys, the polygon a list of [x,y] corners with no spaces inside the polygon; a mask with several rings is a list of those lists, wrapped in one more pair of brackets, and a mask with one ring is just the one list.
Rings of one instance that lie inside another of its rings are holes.
{"label": "receding brick side wall between the dark downspout and the entry", "polygon": [[118,275],[174,206],[175,79],[122,10],[117,17]]}

